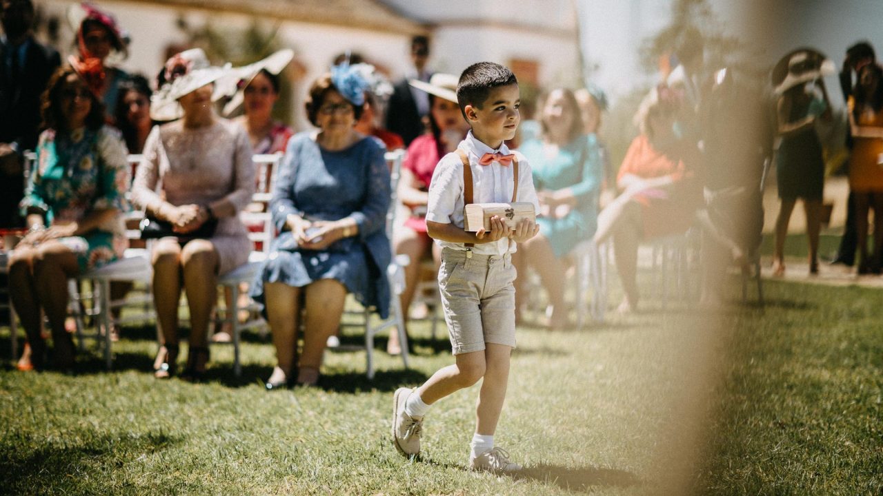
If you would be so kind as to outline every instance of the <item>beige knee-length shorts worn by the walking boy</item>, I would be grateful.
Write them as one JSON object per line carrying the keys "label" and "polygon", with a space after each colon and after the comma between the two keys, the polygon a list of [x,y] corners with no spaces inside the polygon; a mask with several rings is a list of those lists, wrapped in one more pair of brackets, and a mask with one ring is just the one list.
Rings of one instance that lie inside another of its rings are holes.
{"label": "beige knee-length shorts worn by the walking boy", "polygon": [[444,319],[454,355],[493,342],[515,348],[516,270],[510,255],[491,256],[445,248],[439,269]]}

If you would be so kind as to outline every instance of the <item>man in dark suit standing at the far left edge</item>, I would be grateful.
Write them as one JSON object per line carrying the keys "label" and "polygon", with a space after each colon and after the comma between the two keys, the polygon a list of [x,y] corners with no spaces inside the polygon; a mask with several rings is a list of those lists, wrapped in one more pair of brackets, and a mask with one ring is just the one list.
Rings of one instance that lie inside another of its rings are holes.
{"label": "man in dark suit standing at the far left edge", "polygon": [[21,227],[22,154],[40,132],[40,97],[61,64],[55,49],[34,41],[31,0],[0,0],[0,228]]}

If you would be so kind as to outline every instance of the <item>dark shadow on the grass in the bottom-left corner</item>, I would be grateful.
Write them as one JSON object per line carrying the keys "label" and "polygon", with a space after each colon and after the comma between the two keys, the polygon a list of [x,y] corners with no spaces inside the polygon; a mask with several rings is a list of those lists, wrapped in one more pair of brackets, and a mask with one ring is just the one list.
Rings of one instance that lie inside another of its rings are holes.
{"label": "dark shadow on the grass in the bottom-left corner", "polygon": [[[4,474],[4,488],[0,492],[84,492],[87,488],[81,484],[90,479],[84,476],[101,470],[121,469],[126,462],[183,441],[164,432],[141,435],[83,433],[82,437],[86,439],[52,443],[31,436],[6,437],[0,444],[0,473]],[[35,449],[27,449],[35,444]]]}

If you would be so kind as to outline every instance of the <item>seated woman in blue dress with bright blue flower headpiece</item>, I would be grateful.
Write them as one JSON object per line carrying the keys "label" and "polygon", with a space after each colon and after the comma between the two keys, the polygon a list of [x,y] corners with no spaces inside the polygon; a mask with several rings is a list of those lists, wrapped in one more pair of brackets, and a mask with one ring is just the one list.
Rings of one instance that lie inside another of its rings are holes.
{"label": "seated woman in blue dress with bright blue flower headpiece", "polygon": [[292,137],[279,169],[270,211],[280,235],[251,293],[264,304],[276,349],[268,389],[316,383],[348,292],[389,313],[389,168],[378,141],[353,129],[366,87],[348,64],[317,79],[306,113],[319,131]]}

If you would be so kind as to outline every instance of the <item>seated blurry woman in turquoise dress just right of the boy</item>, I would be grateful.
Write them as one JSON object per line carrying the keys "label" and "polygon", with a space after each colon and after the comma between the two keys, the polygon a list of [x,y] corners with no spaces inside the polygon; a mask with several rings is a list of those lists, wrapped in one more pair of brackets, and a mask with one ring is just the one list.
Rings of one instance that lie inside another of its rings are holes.
{"label": "seated blurry woman in turquoise dress just right of the boy", "polygon": [[[541,138],[519,148],[533,169],[542,215],[537,219],[540,234],[519,247],[515,264],[521,274],[526,267],[540,274],[552,308],[549,326],[561,328],[567,325],[564,258],[594,235],[604,172],[598,139],[583,133],[577,100],[569,89],[555,89],[547,95],[540,125]],[[522,281],[519,277],[517,286]],[[523,298],[525,292],[517,287],[515,294]]]}

